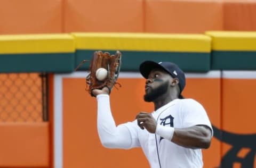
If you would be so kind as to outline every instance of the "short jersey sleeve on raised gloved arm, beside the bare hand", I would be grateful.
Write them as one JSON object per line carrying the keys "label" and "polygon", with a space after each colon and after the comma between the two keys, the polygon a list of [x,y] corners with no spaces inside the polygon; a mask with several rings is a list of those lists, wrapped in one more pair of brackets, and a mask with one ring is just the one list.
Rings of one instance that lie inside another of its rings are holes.
{"label": "short jersey sleeve on raised gloved arm, beside the bare hand", "polygon": [[133,122],[127,122],[124,124],[121,124],[120,126],[126,127],[129,132],[130,132],[130,137],[132,139],[132,145],[131,148],[134,147],[140,147],[140,141],[138,138],[138,125],[137,125],[137,120],[134,120]]}

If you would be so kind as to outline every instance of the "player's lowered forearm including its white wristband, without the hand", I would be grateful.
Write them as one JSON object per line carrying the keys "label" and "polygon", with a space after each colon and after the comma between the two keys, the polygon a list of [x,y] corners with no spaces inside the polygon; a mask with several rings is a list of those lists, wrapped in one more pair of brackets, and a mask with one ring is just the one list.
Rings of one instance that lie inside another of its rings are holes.
{"label": "player's lowered forearm including its white wristband, without the hand", "polygon": [[186,148],[209,148],[211,131],[204,126],[172,128],[157,125],[156,134]]}

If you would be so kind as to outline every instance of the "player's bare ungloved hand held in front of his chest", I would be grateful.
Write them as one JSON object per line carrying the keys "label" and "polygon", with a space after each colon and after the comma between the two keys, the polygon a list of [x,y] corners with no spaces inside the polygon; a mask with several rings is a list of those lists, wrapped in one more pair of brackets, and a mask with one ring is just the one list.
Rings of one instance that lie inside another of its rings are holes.
{"label": "player's bare ungloved hand held in front of his chest", "polygon": [[140,112],[137,114],[136,119],[142,130],[146,128],[150,133],[156,132],[157,123],[151,113]]}

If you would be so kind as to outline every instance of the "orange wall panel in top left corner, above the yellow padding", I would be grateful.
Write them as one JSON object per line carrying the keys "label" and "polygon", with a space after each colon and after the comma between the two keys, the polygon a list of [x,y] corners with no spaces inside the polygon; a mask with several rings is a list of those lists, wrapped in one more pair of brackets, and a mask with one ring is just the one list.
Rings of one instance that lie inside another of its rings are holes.
{"label": "orange wall panel in top left corner, above the yellow padding", "polygon": [[62,0],[0,0],[0,34],[62,32]]}

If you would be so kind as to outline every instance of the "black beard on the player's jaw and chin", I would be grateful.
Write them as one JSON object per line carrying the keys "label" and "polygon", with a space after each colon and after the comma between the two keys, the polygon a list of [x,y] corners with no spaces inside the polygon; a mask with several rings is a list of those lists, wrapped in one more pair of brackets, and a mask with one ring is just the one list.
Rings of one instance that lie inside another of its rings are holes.
{"label": "black beard on the player's jaw and chin", "polygon": [[144,95],[145,102],[153,102],[156,98],[165,94],[168,90],[168,87],[169,87],[169,81],[166,81],[159,87],[150,90],[149,93],[146,93]]}

